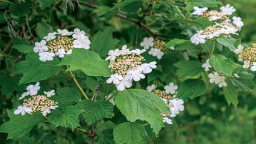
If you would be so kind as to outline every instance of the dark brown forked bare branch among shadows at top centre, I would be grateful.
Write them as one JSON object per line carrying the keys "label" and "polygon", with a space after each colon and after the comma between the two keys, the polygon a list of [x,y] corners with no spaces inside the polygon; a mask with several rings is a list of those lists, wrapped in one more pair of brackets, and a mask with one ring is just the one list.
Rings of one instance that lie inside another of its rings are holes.
{"label": "dark brown forked bare branch among shadows at top centre", "polygon": [[[72,0],[72,1],[76,1],[76,0]],[[92,3],[89,3],[89,2],[80,2],[81,5],[86,5],[87,7],[90,7],[90,8],[99,8],[98,5],[95,5],[95,4],[92,4]],[[151,9],[151,8],[149,8]],[[149,9],[146,11],[146,13],[148,13]],[[145,13],[145,16],[146,16],[146,13]],[[120,13],[117,13],[116,14],[116,17],[119,17],[120,19],[124,19],[124,20],[128,20],[130,22],[133,22],[134,24],[144,28],[150,35],[152,35],[152,37],[166,37],[165,35],[158,35],[158,34],[155,34],[155,32],[153,32],[145,23],[142,23],[142,19],[144,19],[143,16],[141,18],[141,20],[137,20],[137,19],[133,19],[133,18],[128,18],[125,14],[120,14]]]}

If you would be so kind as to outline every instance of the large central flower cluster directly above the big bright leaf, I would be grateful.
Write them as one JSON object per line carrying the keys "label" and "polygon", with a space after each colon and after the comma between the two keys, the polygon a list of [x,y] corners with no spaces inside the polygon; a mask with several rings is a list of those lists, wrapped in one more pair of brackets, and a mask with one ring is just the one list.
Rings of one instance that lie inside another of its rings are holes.
{"label": "large central flower cluster directly above the big bright leaf", "polygon": [[114,71],[107,83],[114,83],[118,91],[130,88],[132,82],[145,79],[145,74],[151,73],[153,68],[157,68],[157,62],[143,63],[145,58],[141,55],[145,49],[126,49],[124,45],[122,50],[110,50],[106,61],[110,61],[110,69]]}

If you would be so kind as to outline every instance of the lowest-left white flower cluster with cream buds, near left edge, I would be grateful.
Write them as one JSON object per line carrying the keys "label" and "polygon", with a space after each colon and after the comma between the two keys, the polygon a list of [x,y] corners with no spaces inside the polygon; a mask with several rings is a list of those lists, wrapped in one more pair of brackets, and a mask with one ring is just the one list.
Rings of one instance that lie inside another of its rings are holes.
{"label": "lowest-left white flower cluster with cream buds, near left edge", "polygon": [[17,109],[14,110],[15,115],[40,112],[43,116],[46,116],[48,113],[51,113],[51,110],[58,107],[57,102],[49,99],[49,97],[55,95],[54,89],[49,92],[44,92],[45,95],[37,95],[37,91],[39,91],[39,89],[39,82],[27,87],[27,92],[24,92],[19,100],[27,97],[28,95],[31,95],[32,97],[23,100],[22,106],[18,106]]}

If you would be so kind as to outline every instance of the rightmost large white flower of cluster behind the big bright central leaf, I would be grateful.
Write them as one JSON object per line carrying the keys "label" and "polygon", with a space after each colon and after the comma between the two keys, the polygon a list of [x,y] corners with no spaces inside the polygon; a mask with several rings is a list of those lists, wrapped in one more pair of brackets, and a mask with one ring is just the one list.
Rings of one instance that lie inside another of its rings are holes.
{"label": "rightmost large white flower of cluster behind the big bright central leaf", "polygon": [[175,117],[178,115],[178,113],[182,112],[184,110],[184,101],[179,98],[173,98],[169,101],[169,107],[171,112],[171,117]]}

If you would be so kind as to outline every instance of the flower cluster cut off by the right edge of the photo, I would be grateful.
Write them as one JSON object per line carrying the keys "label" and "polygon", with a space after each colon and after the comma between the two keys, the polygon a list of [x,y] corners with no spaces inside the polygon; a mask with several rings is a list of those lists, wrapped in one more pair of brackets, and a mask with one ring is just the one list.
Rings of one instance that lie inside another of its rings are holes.
{"label": "flower cluster cut off by the right edge of the photo", "polygon": [[239,61],[243,62],[243,68],[251,68],[252,71],[256,71],[256,44],[252,44],[246,49],[239,45],[234,53],[239,55]]}

